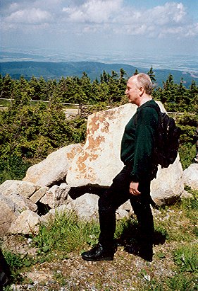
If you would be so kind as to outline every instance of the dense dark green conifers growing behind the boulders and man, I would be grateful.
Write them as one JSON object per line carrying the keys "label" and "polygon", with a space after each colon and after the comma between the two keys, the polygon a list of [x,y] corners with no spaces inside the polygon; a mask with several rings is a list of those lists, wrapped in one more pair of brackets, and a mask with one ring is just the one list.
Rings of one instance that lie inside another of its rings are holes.
{"label": "dense dark green conifers growing behind the boulders and man", "polygon": [[[134,74],[137,74],[137,69]],[[157,83],[153,69],[148,72]],[[126,72],[103,73],[91,81],[82,76],[45,80],[32,76],[12,79],[0,75],[0,183],[7,179],[21,179],[29,166],[42,161],[60,147],[84,142],[86,115],[127,103],[125,98]],[[180,159],[183,169],[192,163],[195,153],[193,136],[198,120],[198,87],[194,80],[187,88],[181,79],[175,84],[169,74],[163,86],[156,86],[154,100],[161,101],[167,111],[175,113],[181,127]],[[10,102],[4,100],[11,99]],[[32,101],[48,101],[35,102]],[[92,105],[88,113],[67,119],[63,103]]]}

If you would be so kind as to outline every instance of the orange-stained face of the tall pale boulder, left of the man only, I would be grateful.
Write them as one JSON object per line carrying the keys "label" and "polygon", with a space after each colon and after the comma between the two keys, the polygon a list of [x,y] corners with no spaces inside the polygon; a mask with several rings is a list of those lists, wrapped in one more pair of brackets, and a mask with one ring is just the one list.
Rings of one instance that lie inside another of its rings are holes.
{"label": "orange-stained face of the tall pale boulder, left of the man only", "polygon": [[88,184],[110,186],[123,168],[121,137],[136,105],[126,104],[89,115],[85,146],[73,159],[66,177],[71,187]]}

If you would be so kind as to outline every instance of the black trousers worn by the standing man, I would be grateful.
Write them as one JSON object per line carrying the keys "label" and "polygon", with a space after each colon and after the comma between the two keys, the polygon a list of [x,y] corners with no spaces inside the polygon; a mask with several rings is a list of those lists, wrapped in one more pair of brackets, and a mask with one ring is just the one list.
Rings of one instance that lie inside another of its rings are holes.
{"label": "black trousers worn by the standing man", "polygon": [[[116,210],[130,199],[132,209],[137,216],[142,237],[142,245],[151,246],[154,234],[154,221],[150,208],[150,183],[147,179],[139,182],[140,195],[129,192],[130,170],[127,166],[113,179],[110,188],[99,198],[99,243],[106,247],[113,246],[113,237],[116,230]],[[141,244],[141,242],[140,242]]]}

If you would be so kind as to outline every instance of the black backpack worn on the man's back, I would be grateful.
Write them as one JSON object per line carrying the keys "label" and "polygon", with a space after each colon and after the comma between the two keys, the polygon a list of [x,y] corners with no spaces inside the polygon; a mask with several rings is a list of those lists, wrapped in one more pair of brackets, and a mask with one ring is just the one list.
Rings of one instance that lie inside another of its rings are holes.
{"label": "black backpack worn on the man's back", "polygon": [[174,163],[180,144],[180,127],[175,125],[175,120],[162,113],[159,105],[148,105],[154,108],[159,115],[158,130],[155,138],[154,164],[161,168],[168,168]]}

